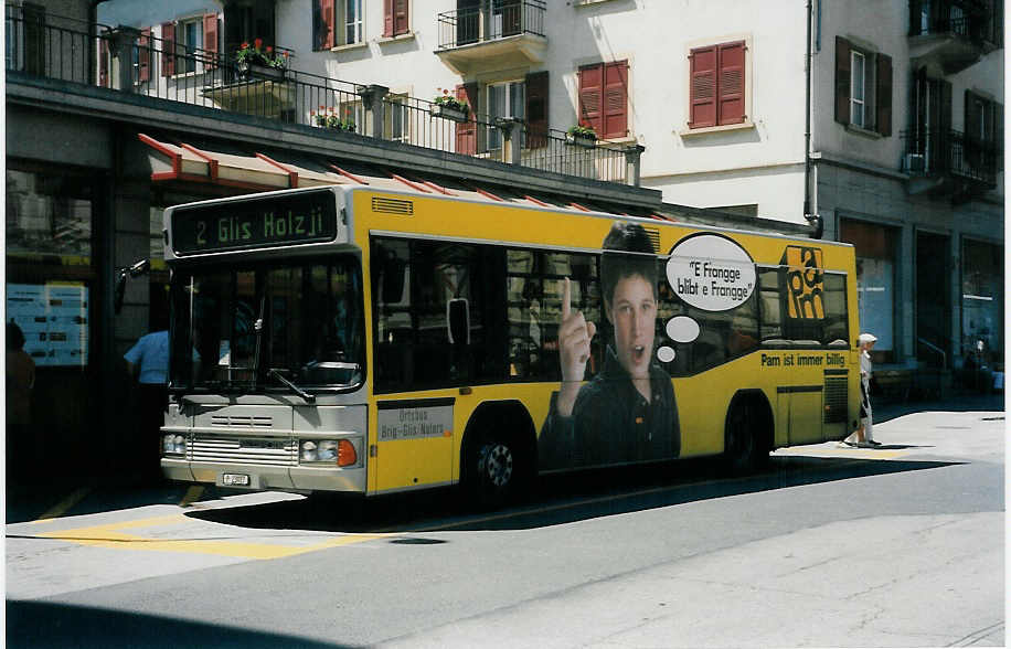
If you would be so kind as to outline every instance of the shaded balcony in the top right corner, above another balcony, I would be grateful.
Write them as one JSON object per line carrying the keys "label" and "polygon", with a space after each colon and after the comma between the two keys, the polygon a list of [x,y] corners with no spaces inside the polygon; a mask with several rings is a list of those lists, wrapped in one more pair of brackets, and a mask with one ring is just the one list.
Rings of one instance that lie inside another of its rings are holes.
{"label": "shaded balcony in the top right corner, above another balcony", "polygon": [[950,75],[1003,47],[1003,29],[992,2],[914,1],[911,9],[909,58],[914,65],[936,63]]}

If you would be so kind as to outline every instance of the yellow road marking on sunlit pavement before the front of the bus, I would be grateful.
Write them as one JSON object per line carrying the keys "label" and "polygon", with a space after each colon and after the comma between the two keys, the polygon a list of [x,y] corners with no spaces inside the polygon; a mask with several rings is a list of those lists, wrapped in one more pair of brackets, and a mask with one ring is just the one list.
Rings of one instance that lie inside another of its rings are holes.
{"label": "yellow road marking on sunlit pavement before the front of the bus", "polygon": [[151,539],[135,534],[126,534],[121,530],[134,528],[157,528],[178,524],[189,519],[183,514],[169,514],[135,521],[123,521],[107,525],[93,525],[74,530],[60,530],[40,534],[46,539],[66,541],[91,547],[107,547],[116,550],[141,550],[155,552],[183,552],[195,554],[211,554],[215,556],[230,556],[235,558],[270,560],[296,556],[308,552],[317,552],[341,545],[364,543],[389,536],[389,534],[342,534],[327,539],[311,545],[279,545],[273,543],[247,543],[215,539]]}

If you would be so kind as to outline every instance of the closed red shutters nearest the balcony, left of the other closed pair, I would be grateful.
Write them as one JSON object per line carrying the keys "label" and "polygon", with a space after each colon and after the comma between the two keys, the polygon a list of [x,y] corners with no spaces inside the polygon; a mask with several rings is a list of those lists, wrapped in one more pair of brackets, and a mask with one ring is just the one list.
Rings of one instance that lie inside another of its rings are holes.
{"label": "closed red shutters nearest the balcony, left of the other closed pair", "polygon": [[579,124],[603,139],[628,135],[628,61],[579,67]]}

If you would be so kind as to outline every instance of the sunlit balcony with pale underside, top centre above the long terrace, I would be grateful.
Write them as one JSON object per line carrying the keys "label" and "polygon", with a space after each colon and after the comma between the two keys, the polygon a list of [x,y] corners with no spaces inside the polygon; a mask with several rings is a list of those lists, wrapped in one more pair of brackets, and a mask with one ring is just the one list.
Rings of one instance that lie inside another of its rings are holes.
{"label": "sunlit balcony with pale underside, top centre above the long terrace", "polygon": [[438,15],[438,57],[455,74],[472,76],[544,61],[544,0],[512,0]]}

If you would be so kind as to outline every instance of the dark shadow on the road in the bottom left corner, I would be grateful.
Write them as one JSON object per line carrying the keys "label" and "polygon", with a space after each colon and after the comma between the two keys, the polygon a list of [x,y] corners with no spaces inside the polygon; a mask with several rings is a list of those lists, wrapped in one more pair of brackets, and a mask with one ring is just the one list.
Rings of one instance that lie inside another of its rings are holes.
{"label": "dark shadow on the road in the bottom left corner", "polygon": [[342,647],[307,638],[50,602],[7,602],[7,647]]}

